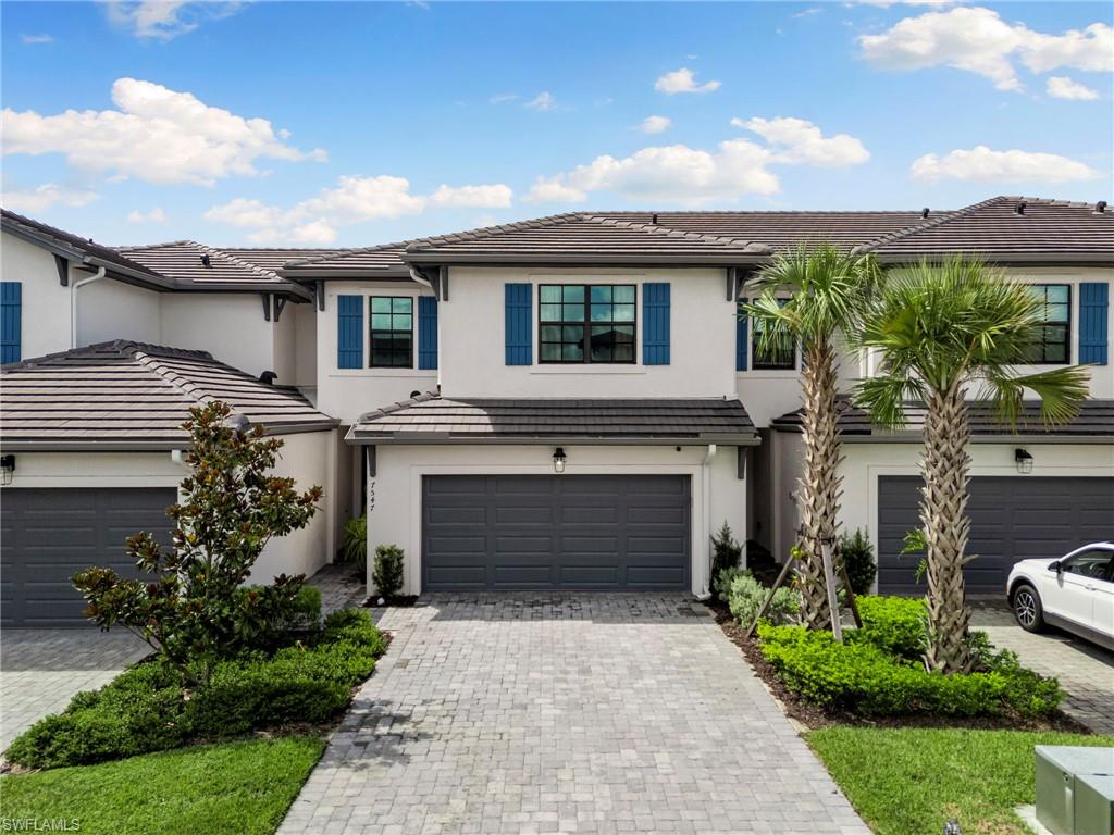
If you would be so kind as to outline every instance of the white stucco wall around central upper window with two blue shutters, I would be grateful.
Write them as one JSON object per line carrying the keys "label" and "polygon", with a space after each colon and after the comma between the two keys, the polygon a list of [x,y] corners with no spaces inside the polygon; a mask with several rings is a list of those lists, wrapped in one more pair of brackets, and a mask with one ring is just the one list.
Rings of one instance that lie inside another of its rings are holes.
{"label": "white stucco wall around central upper window with two blue shutters", "polygon": [[[504,285],[531,283],[534,364],[506,364]],[[642,364],[643,292],[671,286],[668,365]],[[543,365],[538,362],[539,284],[635,284],[634,365]],[[724,271],[453,267],[441,303],[441,392],[447,397],[723,397],[734,394],[734,304]]]}

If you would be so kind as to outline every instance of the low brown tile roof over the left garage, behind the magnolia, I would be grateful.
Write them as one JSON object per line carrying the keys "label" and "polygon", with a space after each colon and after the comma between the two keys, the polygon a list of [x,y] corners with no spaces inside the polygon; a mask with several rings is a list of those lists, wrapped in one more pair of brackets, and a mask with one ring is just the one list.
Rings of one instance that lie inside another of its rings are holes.
{"label": "low brown tile roof over the left garage, behind the magnolia", "polygon": [[296,390],[262,383],[204,351],[117,341],[0,372],[3,449],[177,449],[192,406],[222,400],[272,434],[336,421]]}

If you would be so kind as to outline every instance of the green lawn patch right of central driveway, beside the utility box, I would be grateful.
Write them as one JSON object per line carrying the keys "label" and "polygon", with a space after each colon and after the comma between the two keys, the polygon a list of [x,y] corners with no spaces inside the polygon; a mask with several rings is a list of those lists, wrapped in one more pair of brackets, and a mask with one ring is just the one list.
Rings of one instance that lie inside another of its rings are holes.
{"label": "green lawn patch right of central driveway, beside the utility box", "polygon": [[805,735],[878,835],[1024,835],[1014,806],[1034,802],[1035,745],[1106,745],[1114,737],[1019,730],[836,727]]}

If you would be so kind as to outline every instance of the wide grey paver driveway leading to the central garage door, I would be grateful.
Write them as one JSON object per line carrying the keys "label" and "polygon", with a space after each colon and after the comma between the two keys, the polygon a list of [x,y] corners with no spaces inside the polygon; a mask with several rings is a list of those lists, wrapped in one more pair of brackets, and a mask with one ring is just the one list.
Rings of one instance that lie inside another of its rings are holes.
{"label": "wide grey paver driveway leading to the central garage door", "polygon": [[868,835],[704,608],[429,596],[280,829]]}

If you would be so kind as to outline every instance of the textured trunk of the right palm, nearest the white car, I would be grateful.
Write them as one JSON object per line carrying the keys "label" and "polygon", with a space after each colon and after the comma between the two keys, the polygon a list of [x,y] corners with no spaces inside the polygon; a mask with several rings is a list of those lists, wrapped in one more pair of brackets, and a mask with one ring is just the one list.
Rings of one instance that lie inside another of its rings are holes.
{"label": "textured trunk of the right palm, nearest the white car", "polygon": [[970,670],[967,627],[970,612],[964,593],[964,561],[970,534],[967,488],[970,425],[959,385],[934,392],[925,416],[925,487],[920,520],[928,546],[929,669]]}

